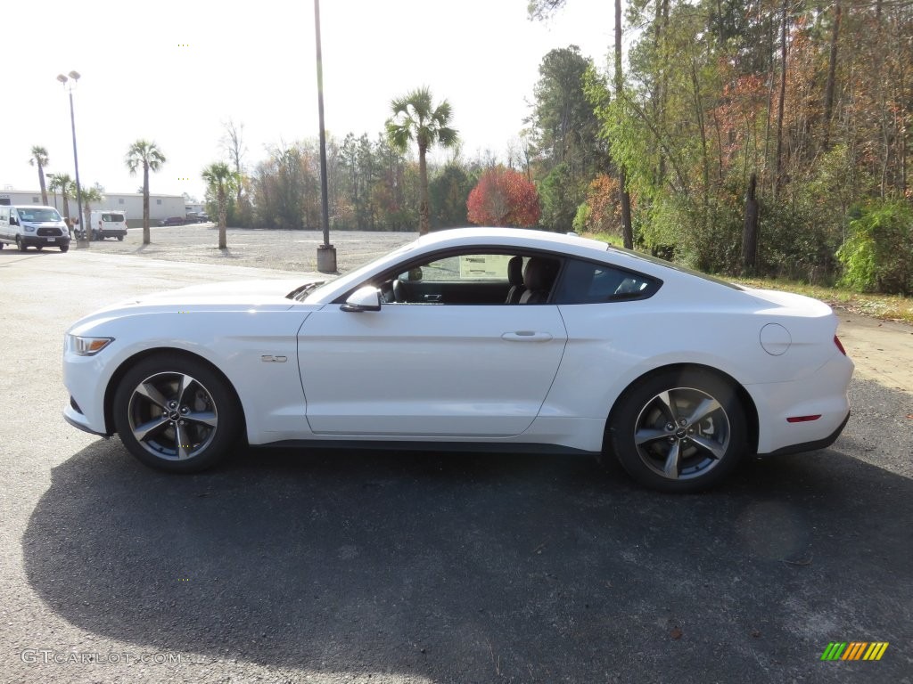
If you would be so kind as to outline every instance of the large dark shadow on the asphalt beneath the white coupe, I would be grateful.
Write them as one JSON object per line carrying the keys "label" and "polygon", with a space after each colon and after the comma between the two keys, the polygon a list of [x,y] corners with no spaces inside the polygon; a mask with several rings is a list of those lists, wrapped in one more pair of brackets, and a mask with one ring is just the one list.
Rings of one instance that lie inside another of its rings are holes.
{"label": "large dark shadow on the asphalt beneath the white coupe", "polygon": [[[26,572],[78,627],[219,660],[848,681],[829,641],[909,652],[913,483],[845,446],[671,496],[585,457],[245,449],[169,476],[99,440],[54,469]],[[908,674],[895,655],[880,680]]]}

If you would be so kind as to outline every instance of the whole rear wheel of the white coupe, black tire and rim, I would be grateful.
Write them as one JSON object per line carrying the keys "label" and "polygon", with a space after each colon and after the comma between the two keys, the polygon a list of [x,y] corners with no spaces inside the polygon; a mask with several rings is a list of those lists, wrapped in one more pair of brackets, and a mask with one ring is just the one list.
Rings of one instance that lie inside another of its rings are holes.
{"label": "whole rear wheel of the white coupe, black tire and rim", "polygon": [[747,451],[735,389],[699,369],[659,373],[626,389],[606,445],[637,482],[659,492],[698,492],[722,482]]}

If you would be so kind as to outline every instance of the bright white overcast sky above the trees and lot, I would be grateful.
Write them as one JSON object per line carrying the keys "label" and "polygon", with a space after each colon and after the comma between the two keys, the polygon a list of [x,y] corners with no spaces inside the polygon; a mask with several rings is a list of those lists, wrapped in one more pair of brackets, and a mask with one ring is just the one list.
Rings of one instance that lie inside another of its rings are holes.
{"label": "bright white overcast sky above the trees and lot", "polygon": [[[202,199],[201,171],[226,160],[229,119],[244,126],[248,167],[271,146],[320,133],[311,0],[36,6],[7,3],[3,13],[0,190],[37,190],[33,145],[47,149],[47,171],[75,176],[57,80],[70,70],[81,75],[72,95],[83,186],[137,192],[142,178],[124,156],[145,139],[167,159],[151,192]],[[530,114],[542,57],[577,45],[604,68],[613,22],[608,0],[568,0],[547,22],[527,18],[527,0],[322,0],[327,134],[373,139],[392,98],[428,86],[449,100],[465,157],[490,150],[503,159]]]}

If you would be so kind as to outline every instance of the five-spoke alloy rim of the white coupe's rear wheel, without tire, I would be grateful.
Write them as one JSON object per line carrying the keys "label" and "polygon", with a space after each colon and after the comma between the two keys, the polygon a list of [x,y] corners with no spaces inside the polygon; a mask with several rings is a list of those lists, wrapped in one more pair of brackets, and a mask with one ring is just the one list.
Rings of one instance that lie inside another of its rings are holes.
{"label": "five-spoke alloy rim of the white coupe's rear wheel, without tire", "polygon": [[729,449],[729,415],[701,389],[675,388],[647,401],[635,421],[641,461],[667,480],[693,480],[719,465]]}

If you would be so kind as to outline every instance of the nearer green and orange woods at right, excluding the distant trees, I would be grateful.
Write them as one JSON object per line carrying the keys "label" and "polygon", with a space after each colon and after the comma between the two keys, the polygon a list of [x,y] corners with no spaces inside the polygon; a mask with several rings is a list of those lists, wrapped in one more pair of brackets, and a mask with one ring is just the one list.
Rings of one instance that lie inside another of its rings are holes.
{"label": "nearer green and orange woods at right, excluding the distant trees", "polygon": [[[533,0],[530,18],[564,4]],[[633,0],[623,16],[616,0],[615,36],[613,73],[583,76],[615,211],[575,184],[578,224],[711,273],[913,294],[913,3]]]}

